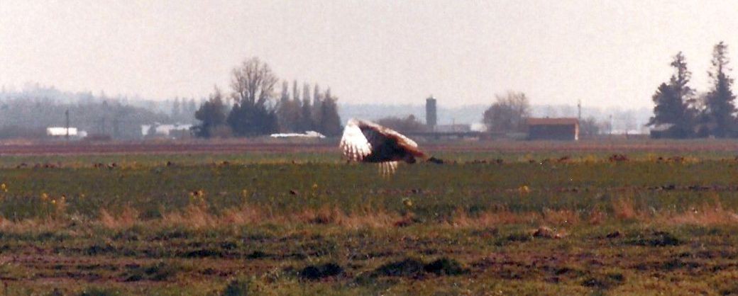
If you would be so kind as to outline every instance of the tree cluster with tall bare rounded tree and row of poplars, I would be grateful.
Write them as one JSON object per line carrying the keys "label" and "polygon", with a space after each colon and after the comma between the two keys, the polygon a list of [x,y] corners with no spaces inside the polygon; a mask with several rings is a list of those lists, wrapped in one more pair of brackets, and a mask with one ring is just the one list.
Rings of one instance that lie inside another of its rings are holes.
{"label": "tree cluster with tall bare rounded tree and row of poplars", "polygon": [[279,79],[268,64],[258,57],[244,60],[231,72],[230,93],[217,86],[208,99],[195,111],[200,124],[193,127],[202,138],[258,136],[271,133],[302,133],[314,130],[327,136],[341,133],[338,98],[331,88],[303,84],[302,94],[297,81],[283,81],[277,99]]}

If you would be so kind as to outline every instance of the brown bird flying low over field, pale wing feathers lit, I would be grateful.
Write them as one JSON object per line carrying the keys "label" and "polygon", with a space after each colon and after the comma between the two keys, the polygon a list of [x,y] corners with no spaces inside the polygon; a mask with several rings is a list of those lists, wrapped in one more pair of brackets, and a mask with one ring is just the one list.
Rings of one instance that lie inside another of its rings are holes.
{"label": "brown bird flying low over field, pale wing feathers lit", "polygon": [[400,161],[415,163],[416,158],[443,163],[428,157],[418,144],[406,136],[371,121],[350,119],[343,130],[339,147],[349,161],[379,163],[382,175],[393,174]]}

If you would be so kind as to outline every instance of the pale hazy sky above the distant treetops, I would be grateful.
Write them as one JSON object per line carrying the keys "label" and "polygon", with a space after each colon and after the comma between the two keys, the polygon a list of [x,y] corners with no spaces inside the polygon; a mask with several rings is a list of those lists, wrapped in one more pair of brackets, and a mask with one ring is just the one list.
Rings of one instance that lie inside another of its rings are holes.
{"label": "pale hazy sky above the distant treetops", "polygon": [[341,102],[651,106],[686,54],[738,57],[738,1],[0,1],[0,84],[172,98],[257,56]]}

